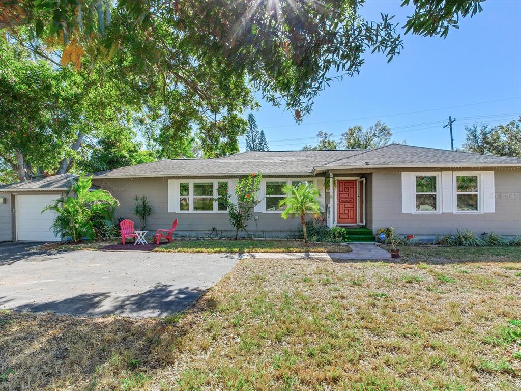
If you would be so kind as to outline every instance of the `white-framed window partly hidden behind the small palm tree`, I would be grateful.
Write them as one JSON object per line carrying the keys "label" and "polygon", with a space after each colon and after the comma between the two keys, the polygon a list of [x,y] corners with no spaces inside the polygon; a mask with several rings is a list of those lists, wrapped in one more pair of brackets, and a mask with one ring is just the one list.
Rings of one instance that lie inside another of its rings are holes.
{"label": "white-framed window partly hidden behind the small palm tree", "polygon": [[[318,178],[263,178],[259,194],[259,198],[262,200],[258,207],[255,207],[255,212],[282,213],[284,207],[279,206],[279,202],[286,198],[283,192],[284,187],[287,185],[299,186],[302,182],[317,187],[317,179]],[[319,192],[320,206],[321,209],[323,209],[324,191],[319,189]]]}

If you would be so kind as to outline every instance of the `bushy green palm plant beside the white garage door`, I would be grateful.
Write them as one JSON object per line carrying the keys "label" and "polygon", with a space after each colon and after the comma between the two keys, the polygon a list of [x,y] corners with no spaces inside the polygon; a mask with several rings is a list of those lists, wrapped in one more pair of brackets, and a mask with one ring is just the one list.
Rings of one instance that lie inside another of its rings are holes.
{"label": "bushy green palm plant beside the white garage door", "polygon": [[114,224],[114,207],[119,205],[118,200],[106,190],[90,191],[91,186],[92,176],[81,175],[64,197],[44,207],[42,213],[56,213],[52,225],[56,236],[70,237],[76,243],[83,238],[94,239],[96,226]]}

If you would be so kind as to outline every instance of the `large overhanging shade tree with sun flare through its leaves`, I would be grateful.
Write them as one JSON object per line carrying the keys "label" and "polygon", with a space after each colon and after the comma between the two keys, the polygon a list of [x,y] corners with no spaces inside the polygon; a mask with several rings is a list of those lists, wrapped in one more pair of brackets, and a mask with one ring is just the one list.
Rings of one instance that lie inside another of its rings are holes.
{"label": "large overhanging shade tree with sun flare through its leaves", "polygon": [[[406,31],[445,36],[458,18],[481,11],[479,0],[409,0]],[[257,107],[252,91],[286,107],[297,121],[334,79],[357,74],[367,51],[389,60],[402,39],[387,15],[365,20],[362,0],[3,0],[0,28],[9,45],[58,68],[76,69],[82,92],[103,99],[105,85],[131,91],[134,119],[160,158],[237,152],[242,114]],[[128,96],[128,95],[127,95]],[[98,106],[84,101],[82,112]],[[111,101],[127,129],[127,113]],[[103,106],[102,106],[103,107]],[[83,116],[78,118],[82,119]],[[82,121],[89,124],[88,121]],[[87,128],[67,141],[70,170]],[[103,135],[97,135],[103,138]],[[110,139],[110,137],[109,137]],[[88,139],[87,139],[88,140]],[[86,152],[88,153],[88,152]]]}

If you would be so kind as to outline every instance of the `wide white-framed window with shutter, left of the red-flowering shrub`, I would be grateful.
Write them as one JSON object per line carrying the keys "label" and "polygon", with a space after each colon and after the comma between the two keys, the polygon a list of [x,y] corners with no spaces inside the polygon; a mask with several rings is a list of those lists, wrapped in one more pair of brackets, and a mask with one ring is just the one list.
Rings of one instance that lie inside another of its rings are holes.
{"label": "wide white-framed window with shutter, left of the red-flowering shrub", "polygon": [[230,179],[169,179],[168,212],[226,213],[228,209],[224,202],[217,200],[218,189],[231,191],[231,181]]}

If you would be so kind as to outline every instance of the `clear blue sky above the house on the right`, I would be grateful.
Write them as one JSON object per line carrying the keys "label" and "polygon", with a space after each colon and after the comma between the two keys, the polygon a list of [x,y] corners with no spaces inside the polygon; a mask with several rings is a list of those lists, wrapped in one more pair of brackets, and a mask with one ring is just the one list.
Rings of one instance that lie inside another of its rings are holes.
{"label": "clear blue sky above the house on the right", "polygon": [[[369,1],[362,14],[375,20],[383,11],[396,15],[403,26],[412,7],[400,3]],[[443,124],[451,115],[456,118],[454,145],[461,146],[465,125],[506,124],[521,113],[519,26],[521,2],[485,2],[482,13],[461,19],[460,29],[452,29],[446,39],[403,36],[404,49],[389,64],[383,55],[368,53],[361,73],[322,91],[301,125],[262,101],[254,113],[257,124],[271,150],[300,150],[316,143],[319,130],[340,136],[351,126],[368,127],[378,119],[391,128],[395,141],[450,149]],[[244,140],[239,144],[243,151]]]}

